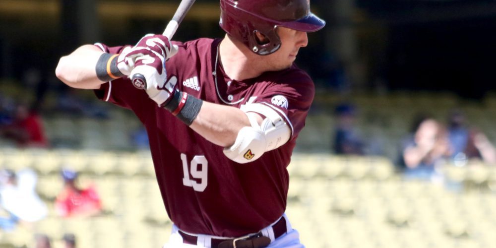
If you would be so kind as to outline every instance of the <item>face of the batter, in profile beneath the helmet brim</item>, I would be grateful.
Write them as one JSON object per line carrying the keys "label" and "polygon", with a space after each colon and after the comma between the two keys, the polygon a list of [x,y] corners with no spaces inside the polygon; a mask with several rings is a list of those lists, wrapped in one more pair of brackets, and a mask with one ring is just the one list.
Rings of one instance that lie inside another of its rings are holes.
{"label": "face of the batter, in profile beneath the helmet brim", "polygon": [[275,70],[282,70],[290,67],[296,60],[300,48],[308,45],[308,37],[306,32],[285,27],[277,27],[276,31],[281,39],[281,47],[267,57]]}

